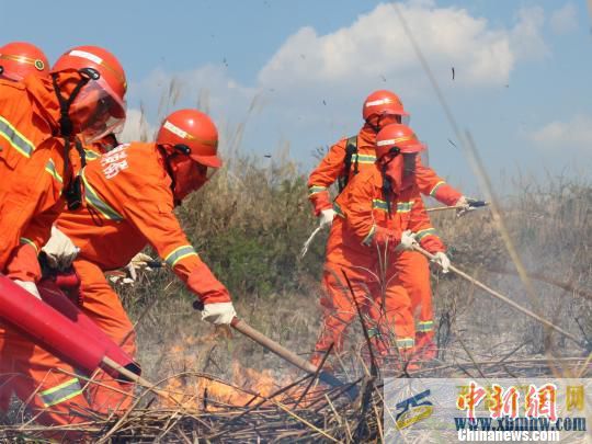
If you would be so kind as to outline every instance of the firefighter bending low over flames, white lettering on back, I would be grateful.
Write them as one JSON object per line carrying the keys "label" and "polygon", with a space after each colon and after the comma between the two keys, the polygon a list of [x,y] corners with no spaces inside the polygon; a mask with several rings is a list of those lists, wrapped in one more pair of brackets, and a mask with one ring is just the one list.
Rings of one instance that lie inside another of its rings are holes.
{"label": "firefighter bending low over flames, white lettering on back", "polygon": [[[136,352],[133,325],[103,273],[127,265],[147,244],[204,304],[202,319],[228,325],[236,315],[228,291],[200,259],[173,213],[175,205],[207,182],[208,172],[221,166],[217,144],[217,129],[207,115],[177,111],[164,119],[156,144],[119,145],[89,162],[81,173],[88,208],[66,212],[57,220],[80,249],[73,262],[80,278],[80,309],[132,356]],[[35,237],[32,240],[36,243]],[[31,363],[46,373],[60,365],[57,358],[35,356]],[[87,397],[79,394],[53,406],[61,412],[55,420],[71,421],[68,412],[87,398],[94,411],[129,407],[132,399],[125,396],[133,388],[129,384],[105,373],[98,383],[90,386]]]}

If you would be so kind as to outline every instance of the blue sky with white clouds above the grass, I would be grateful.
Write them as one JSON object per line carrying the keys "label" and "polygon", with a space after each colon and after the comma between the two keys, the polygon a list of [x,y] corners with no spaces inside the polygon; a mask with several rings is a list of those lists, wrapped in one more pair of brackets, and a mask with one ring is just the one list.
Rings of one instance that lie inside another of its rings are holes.
{"label": "blue sky with white clouds above the grass", "polygon": [[[498,183],[501,171],[590,177],[592,36],[583,1],[399,4]],[[79,44],[112,50],[128,75],[132,126],[140,103],[149,127],[158,125],[161,96],[177,79],[179,98],[170,110],[202,96],[223,134],[246,123],[243,150],[275,152],[289,143],[291,157],[305,170],[317,147],[356,132],[367,93],[391,89],[429,144],[431,166],[475,187],[386,2],[0,0],[0,10],[2,41],[35,43],[52,61]]]}

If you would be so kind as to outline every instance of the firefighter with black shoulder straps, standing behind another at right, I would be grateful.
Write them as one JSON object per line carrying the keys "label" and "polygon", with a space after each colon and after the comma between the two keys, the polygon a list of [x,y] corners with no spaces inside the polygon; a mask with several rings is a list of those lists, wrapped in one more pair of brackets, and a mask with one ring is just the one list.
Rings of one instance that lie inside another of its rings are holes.
{"label": "firefighter with black shoulder straps, standing behind another at right", "polygon": [[[333,145],[328,155],[312,171],[308,179],[309,200],[319,216],[320,224],[331,224],[334,210],[329,195],[329,186],[339,182],[340,192],[353,177],[374,169],[376,161],[376,134],[388,124],[408,121],[409,114],[397,94],[390,91],[375,91],[364,101],[362,116],[364,126],[357,134]],[[445,205],[464,205],[467,209],[470,200],[445,183],[435,172],[415,158],[415,182],[420,193],[435,197]],[[328,244],[342,242],[341,234],[331,230]],[[417,320],[415,342],[423,349],[425,358],[435,356],[433,344],[432,293],[430,288],[430,270],[426,259],[417,252],[410,252],[400,259],[400,281],[407,292],[412,295],[413,314]]]}

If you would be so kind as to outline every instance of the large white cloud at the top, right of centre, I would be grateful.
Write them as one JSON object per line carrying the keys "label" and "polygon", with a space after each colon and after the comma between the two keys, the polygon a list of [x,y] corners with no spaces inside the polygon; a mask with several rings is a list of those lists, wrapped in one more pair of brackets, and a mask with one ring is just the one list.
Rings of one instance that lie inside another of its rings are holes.
{"label": "large white cloud at the top, right of centre", "polygon": [[[504,84],[517,59],[546,55],[539,8],[519,12],[513,30],[496,30],[465,9],[436,8],[431,1],[399,4],[434,71],[469,86]],[[303,27],[262,68],[265,88],[349,88],[376,81],[413,84],[423,75],[392,4],[379,4],[348,27],[319,35]]]}

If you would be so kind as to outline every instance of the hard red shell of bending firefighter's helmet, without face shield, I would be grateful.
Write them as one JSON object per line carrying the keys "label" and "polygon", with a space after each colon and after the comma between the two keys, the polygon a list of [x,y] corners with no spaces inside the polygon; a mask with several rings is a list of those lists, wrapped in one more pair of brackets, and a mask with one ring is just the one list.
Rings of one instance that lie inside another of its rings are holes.
{"label": "hard red shell of bending firefighter's helmet, without face shield", "polygon": [[168,146],[168,152],[173,152],[175,145],[185,146],[189,157],[197,163],[221,167],[216,125],[197,110],[180,110],[169,115],[160,126],[157,144]]}

